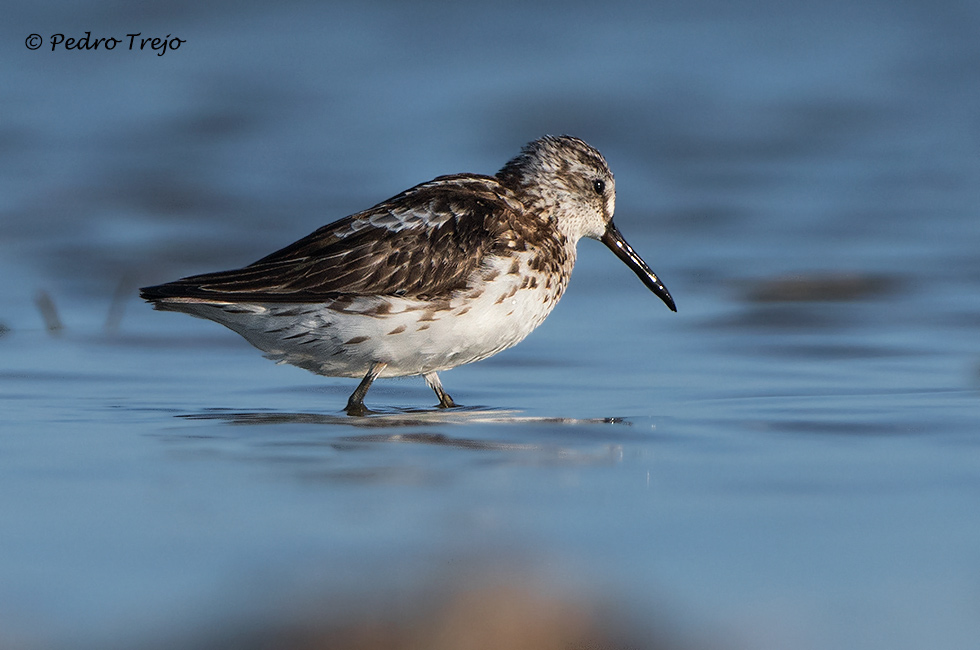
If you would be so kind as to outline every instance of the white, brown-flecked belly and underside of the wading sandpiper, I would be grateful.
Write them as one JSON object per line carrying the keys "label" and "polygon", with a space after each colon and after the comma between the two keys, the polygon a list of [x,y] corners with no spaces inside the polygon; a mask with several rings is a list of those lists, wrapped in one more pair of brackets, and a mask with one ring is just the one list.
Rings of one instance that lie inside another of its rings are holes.
{"label": "white, brown-flecked belly and underside of the wading sandpiper", "polygon": [[568,274],[550,281],[528,276],[524,263],[521,273],[509,273],[511,262],[500,260],[492,280],[441,302],[369,296],[333,307],[187,302],[171,308],[219,322],[270,359],[321,375],[361,377],[375,363],[387,364],[382,377],[419,375],[516,345],[551,313]]}

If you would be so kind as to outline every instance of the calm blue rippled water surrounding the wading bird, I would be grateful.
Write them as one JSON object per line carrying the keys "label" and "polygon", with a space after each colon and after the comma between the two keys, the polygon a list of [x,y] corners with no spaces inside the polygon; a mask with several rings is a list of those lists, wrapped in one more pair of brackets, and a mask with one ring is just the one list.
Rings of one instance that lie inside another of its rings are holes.
{"label": "calm blue rippled water surrounding the wading bird", "polygon": [[[8,13],[0,647],[498,582],[637,647],[980,643],[975,3]],[[86,30],[186,42],[51,51]],[[545,133],[605,154],[679,311],[584,241],[539,330],[443,374],[460,411],[379,380],[347,418],[356,382],[136,296]]]}

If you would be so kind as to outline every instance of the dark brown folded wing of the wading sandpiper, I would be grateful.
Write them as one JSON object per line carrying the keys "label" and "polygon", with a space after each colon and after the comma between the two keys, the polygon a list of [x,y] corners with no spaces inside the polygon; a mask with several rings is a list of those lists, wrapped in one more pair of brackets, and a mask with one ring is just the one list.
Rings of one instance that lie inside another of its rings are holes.
{"label": "dark brown folded wing of the wading sandpiper", "polygon": [[146,287],[140,295],[221,302],[445,295],[466,286],[513,222],[519,205],[512,196],[491,177],[439,177],[244,268]]}

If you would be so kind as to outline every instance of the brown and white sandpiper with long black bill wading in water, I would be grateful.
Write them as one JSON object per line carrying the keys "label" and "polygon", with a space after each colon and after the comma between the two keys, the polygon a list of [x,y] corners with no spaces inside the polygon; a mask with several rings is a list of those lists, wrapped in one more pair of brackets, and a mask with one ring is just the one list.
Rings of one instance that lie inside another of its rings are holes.
{"label": "brown and white sandpiper with long black bill wading in water", "polygon": [[140,290],[154,307],[207,318],[265,355],[361,377],[346,411],[367,412],[378,377],[422,375],[456,406],[440,370],[516,345],[561,298],[582,237],[597,239],[676,311],[613,224],[616,184],[571,136],[528,143],[495,176],[440,176],[233,271]]}

